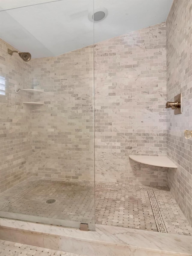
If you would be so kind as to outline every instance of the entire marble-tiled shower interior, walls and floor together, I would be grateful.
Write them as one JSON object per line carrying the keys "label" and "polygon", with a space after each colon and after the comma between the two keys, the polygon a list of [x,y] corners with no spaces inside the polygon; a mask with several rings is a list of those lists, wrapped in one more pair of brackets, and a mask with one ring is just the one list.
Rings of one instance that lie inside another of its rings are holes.
{"label": "entire marble-tiled shower interior, walls and floor together", "polygon": [[174,0],[158,24],[29,62],[0,40],[2,218],[192,235],[191,12]]}

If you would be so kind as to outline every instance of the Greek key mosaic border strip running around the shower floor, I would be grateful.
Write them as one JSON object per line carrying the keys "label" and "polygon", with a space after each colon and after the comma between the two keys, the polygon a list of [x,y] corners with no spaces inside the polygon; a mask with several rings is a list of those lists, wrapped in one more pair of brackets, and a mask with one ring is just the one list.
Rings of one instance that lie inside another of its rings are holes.
{"label": "Greek key mosaic border strip running around the shower floor", "polygon": [[[92,184],[84,184],[84,183],[73,183],[73,182],[65,182],[65,181],[51,181],[51,180],[39,180],[38,182],[35,182],[32,186],[30,186],[29,188],[25,189],[24,191],[22,191],[21,193],[17,194],[15,197],[11,198],[10,200],[8,200],[7,202],[5,202],[4,204],[2,204],[0,206],[0,210],[2,210],[3,208],[5,208],[6,206],[10,205],[11,203],[15,202],[16,200],[18,200],[20,197],[22,197],[23,195],[27,194],[29,191],[31,191],[33,188],[37,187],[38,185],[40,185],[42,182],[46,182],[46,183],[56,183],[56,184],[63,184],[63,185],[77,185],[77,186],[87,186],[87,187],[94,187],[94,185]],[[113,185],[95,185],[95,187],[100,187],[100,188],[115,188],[115,189],[126,189],[126,190],[145,190],[148,192],[148,196],[149,196],[149,200],[151,203],[151,207],[152,207],[152,211],[153,211],[153,215],[155,218],[155,223],[158,229],[158,232],[162,232],[162,233],[168,233],[166,226],[164,224],[162,215],[161,215],[161,211],[159,209],[158,206],[158,202],[155,198],[155,194],[152,188],[138,188],[138,187],[123,187],[123,186],[113,186]]]}

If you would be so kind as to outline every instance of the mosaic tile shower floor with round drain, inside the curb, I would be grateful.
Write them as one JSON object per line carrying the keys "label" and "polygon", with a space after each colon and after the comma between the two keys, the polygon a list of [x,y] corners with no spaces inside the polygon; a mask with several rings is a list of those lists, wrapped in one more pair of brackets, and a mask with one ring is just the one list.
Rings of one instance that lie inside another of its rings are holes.
{"label": "mosaic tile shower floor with round drain, inside the curb", "polygon": [[[166,187],[31,177],[0,194],[1,212],[192,235]],[[46,203],[55,199],[55,203]]]}

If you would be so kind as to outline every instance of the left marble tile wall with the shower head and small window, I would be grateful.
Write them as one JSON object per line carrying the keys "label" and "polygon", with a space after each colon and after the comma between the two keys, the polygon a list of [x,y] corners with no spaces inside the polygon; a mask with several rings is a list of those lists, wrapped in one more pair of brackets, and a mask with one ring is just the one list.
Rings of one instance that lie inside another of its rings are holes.
{"label": "left marble tile wall with the shower head and small window", "polygon": [[31,61],[24,62],[0,39],[0,192],[31,175],[31,108],[24,105],[30,95],[14,91],[14,85],[31,88]]}

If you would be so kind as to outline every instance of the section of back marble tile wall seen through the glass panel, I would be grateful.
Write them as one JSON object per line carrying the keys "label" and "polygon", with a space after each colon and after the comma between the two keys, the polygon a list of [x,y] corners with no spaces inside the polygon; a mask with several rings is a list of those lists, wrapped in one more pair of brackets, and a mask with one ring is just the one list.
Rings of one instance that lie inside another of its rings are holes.
{"label": "section of back marble tile wall seen through the glass panel", "polygon": [[32,110],[34,173],[94,180],[93,46],[33,59],[32,86],[44,90]]}

